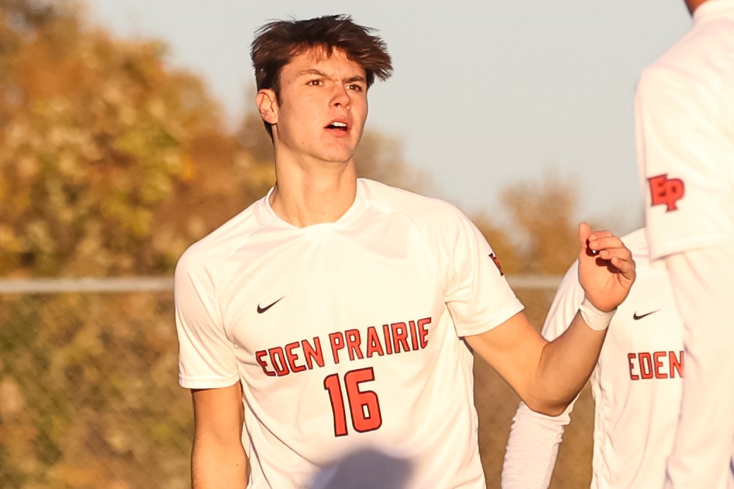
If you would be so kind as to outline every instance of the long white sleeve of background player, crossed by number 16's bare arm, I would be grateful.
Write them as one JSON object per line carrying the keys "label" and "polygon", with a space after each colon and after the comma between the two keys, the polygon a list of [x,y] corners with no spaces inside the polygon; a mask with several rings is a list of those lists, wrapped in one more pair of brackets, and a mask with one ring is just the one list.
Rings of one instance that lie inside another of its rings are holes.
{"label": "long white sleeve of background player, crossed by number 16's bare arm", "polygon": [[[542,335],[553,340],[564,333],[582,300],[584,289],[578,283],[577,261],[564,275],[556,297],[553,298]],[[503,489],[548,488],[556,466],[558,447],[575,402],[574,399],[560,416],[536,413],[524,402],[520,402],[512,419],[502,466]]]}

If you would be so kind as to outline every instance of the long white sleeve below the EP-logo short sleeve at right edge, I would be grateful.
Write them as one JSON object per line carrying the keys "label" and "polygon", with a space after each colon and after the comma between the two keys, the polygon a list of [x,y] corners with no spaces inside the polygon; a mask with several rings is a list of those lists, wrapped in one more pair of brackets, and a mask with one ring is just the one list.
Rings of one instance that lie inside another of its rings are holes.
{"label": "long white sleeve below the EP-logo short sleeve at right edge", "polygon": [[734,449],[734,240],[665,258],[686,327],[683,402],[668,473],[675,487],[716,488]]}

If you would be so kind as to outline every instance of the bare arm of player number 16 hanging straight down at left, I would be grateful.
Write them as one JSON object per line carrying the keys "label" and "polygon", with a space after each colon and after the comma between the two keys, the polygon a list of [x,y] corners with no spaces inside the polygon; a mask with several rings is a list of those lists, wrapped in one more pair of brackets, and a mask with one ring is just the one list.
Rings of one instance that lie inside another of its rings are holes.
{"label": "bare arm of player number 16 hanging straight down at left", "polygon": [[242,447],[242,388],[192,389],[194,448],[192,488],[245,488],[247,457]]}

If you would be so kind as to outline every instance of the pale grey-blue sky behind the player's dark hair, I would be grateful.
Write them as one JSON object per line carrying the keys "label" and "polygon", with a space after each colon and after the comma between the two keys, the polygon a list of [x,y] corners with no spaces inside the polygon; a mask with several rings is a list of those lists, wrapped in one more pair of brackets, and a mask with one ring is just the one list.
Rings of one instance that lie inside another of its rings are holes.
{"label": "pale grey-blue sky behind the player's dark hair", "polygon": [[[254,106],[253,32],[346,13],[388,45],[368,129],[401,141],[429,195],[509,223],[499,196],[555,172],[578,182],[577,220],[642,224],[633,98],[642,69],[690,26],[683,0],[88,0],[117,37],[155,37],[200,75],[231,123]],[[610,225],[606,226],[606,222]]]}

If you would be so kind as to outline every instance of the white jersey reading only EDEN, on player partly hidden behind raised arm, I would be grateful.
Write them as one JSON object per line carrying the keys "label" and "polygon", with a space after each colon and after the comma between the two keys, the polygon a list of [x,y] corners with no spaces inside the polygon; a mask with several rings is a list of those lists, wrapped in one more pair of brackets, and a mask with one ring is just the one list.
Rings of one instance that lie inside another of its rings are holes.
{"label": "white jersey reading only EDEN, on player partly hidden behind raised arm", "polygon": [[[644,229],[622,238],[636,261],[637,278],[611,319],[592,373],[595,401],[592,488],[656,489],[680,410],[683,322],[665,267],[648,259]],[[578,261],[564,276],[542,334],[553,340],[570,325],[584,289]],[[547,488],[572,405],[561,416],[534,413],[520,403],[507,443],[502,487]]]}

